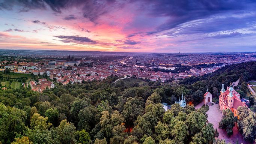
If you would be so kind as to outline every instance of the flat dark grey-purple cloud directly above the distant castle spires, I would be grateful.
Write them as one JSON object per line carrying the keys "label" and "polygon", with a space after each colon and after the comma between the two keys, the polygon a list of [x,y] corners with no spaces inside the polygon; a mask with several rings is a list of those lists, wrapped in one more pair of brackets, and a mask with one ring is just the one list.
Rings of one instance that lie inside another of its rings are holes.
{"label": "flat dark grey-purple cloud directly above the distant castle spires", "polygon": [[96,43],[94,40],[89,39],[88,37],[81,37],[81,36],[54,36],[62,39],[60,41],[65,43]]}

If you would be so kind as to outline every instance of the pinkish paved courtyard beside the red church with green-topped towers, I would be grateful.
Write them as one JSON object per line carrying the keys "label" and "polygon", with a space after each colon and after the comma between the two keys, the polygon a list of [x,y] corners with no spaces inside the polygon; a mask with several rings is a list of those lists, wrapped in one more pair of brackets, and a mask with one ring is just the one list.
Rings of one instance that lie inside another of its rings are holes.
{"label": "pinkish paved courtyard beside the red church with green-topped towers", "polygon": [[218,132],[220,133],[218,137],[219,139],[226,139],[226,143],[231,142],[232,144],[235,144],[236,139],[238,139],[239,144],[241,143],[250,144],[244,141],[242,135],[236,129],[236,126],[234,126],[233,135],[231,135],[230,137],[227,136],[226,130],[218,128],[218,122],[221,120],[221,117],[222,117],[222,113],[218,108],[218,104],[214,104],[210,106],[209,111],[207,111],[206,114],[208,114],[209,123],[212,123],[214,129],[217,128]]}

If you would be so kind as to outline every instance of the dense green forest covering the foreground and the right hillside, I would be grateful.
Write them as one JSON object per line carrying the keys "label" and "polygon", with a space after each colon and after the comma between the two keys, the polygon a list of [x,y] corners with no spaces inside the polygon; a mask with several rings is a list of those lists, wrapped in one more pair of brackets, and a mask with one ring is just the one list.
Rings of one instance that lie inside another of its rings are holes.
{"label": "dense green forest covering the foreground and the right hillside", "polygon": [[[107,80],[56,86],[43,93],[0,90],[0,141],[3,144],[223,143],[215,141],[215,130],[207,122],[205,111],[195,110],[189,103],[196,105],[202,101],[207,87],[218,96],[222,80],[227,84],[238,78],[242,81],[255,78],[255,66],[255,62],[225,66],[206,76],[182,80],[178,86],[136,81],[127,84],[125,80],[114,85],[117,77],[112,75]],[[182,93],[188,104],[185,108],[174,104]],[[165,112],[161,102],[172,104],[171,110]],[[247,120],[244,117],[249,114],[241,113],[238,123],[243,130]],[[251,132],[256,132],[255,126],[252,128]],[[253,139],[254,135],[245,134],[246,139]]]}

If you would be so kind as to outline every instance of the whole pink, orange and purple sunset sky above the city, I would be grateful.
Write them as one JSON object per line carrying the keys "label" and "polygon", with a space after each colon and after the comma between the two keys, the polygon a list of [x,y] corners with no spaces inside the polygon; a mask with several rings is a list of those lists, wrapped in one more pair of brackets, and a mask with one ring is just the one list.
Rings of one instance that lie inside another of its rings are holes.
{"label": "whole pink, orange and purple sunset sky above the city", "polygon": [[0,0],[0,49],[256,51],[256,2]]}

